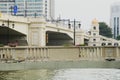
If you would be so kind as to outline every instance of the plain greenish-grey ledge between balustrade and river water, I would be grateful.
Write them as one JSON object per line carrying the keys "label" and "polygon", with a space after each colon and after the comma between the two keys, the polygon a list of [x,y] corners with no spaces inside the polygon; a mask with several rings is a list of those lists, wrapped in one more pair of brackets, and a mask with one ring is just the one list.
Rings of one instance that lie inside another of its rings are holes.
{"label": "plain greenish-grey ledge between balustrade and river water", "polygon": [[120,61],[40,61],[0,63],[0,71],[65,68],[120,68]]}

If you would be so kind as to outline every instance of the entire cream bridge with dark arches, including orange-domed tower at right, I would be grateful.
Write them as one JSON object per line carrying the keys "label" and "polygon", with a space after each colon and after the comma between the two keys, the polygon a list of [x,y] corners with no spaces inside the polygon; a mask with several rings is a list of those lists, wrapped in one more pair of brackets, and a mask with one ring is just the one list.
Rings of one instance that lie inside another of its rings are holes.
{"label": "entire cream bridge with dark arches, including orange-domed tower at right", "polygon": [[[74,21],[73,21],[74,22]],[[76,25],[61,25],[43,17],[25,18],[2,14],[0,17],[0,45],[9,46],[119,46],[120,41],[99,35],[99,23],[92,21],[89,32]]]}

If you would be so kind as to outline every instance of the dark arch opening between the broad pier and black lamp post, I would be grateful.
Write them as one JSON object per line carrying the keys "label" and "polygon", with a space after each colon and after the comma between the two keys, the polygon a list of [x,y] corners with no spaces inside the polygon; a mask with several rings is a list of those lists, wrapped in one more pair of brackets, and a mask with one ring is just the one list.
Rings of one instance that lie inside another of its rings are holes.
{"label": "dark arch opening between the broad pier and black lamp post", "polygon": [[63,46],[66,44],[73,44],[73,39],[66,33],[46,31],[47,46]]}

